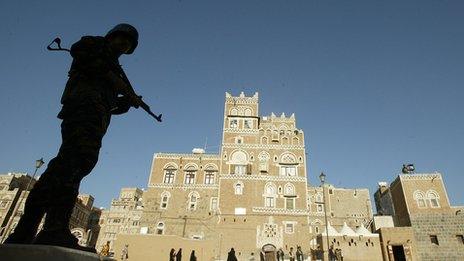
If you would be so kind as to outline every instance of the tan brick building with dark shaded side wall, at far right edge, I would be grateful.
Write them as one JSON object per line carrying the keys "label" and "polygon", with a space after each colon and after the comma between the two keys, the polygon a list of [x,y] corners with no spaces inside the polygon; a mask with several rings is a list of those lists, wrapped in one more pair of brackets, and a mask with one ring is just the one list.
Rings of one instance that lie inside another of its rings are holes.
{"label": "tan brick building with dark shaded side wall, at far right edge", "polygon": [[420,260],[463,259],[464,207],[450,205],[440,173],[402,174],[379,185],[377,211],[412,229]]}

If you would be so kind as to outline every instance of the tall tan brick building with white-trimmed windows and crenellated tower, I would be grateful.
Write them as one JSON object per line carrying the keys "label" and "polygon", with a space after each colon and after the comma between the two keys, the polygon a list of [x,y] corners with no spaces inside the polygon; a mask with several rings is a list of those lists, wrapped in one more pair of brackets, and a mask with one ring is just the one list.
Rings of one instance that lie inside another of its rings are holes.
{"label": "tall tan brick building with white-trimmed windows and crenellated tower", "polygon": [[[310,241],[325,229],[324,195],[308,184],[305,137],[295,116],[260,116],[257,93],[226,93],[222,125],[219,154],[154,155],[141,234],[213,242],[207,258],[224,258],[231,247],[239,258],[262,249],[270,256],[279,248],[288,253],[301,246],[305,256],[320,250]],[[334,227],[369,224],[367,189],[327,185],[325,191]]]}

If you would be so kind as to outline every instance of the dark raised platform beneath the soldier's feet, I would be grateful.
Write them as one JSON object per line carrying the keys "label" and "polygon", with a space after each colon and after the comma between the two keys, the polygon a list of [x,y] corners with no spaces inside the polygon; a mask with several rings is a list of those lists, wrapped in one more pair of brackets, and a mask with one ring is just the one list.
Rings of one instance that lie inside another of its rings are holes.
{"label": "dark raised platform beneath the soldier's feet", "polygon": [[94,253],[80,250],[45,245],[0,245],[0,260],[8,261],[114,261]]}

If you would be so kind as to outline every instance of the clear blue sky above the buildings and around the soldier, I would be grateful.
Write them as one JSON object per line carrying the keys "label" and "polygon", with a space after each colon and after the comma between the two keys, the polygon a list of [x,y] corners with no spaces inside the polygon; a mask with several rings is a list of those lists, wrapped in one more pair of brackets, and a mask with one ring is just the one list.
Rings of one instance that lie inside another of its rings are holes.
{"label": "clear blue sky above the buildings and around the soldier", "polygon": [[2,1],[0,173],[33,172],[61,142],[60,97],[70,46],[128,22],[140,44],[121,63],[165,121],[113,117],[81,192],[108,207],[146,187],[156,152],[221,140],[224,93],[260,93],[262,115],[295,113],[309,181],[367,187],[405,162],[443,173],[464,204],[463,1]]}

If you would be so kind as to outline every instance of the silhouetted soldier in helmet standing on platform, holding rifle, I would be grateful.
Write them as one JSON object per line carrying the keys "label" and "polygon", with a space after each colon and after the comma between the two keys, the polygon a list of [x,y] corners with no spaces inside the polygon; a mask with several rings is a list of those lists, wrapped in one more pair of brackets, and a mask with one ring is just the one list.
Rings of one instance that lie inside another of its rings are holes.
{"label": "silhouetted soldier in helmet standing on platform, holding rifle", "polygon": [[[130,95],[116,69],[118,58],[133,53],[137,44],[137,30],[119,24],[104,37],[84,36],[72,45],[73,62],[58,114],[63,120],[61,147],[31,190],[24,214],[5,243],[80,249],[69,230],[80,182],[98,161],[111,115],[141,104],[140,97]],[[36,236],[44,214],[45,224]]]}

